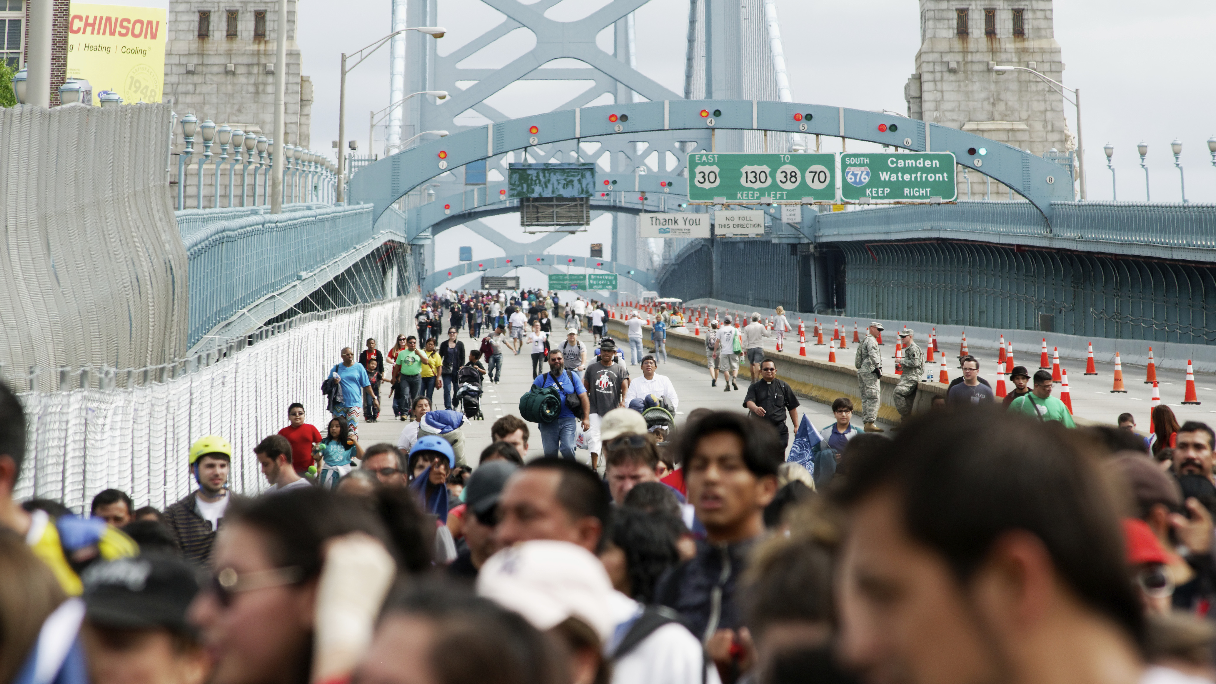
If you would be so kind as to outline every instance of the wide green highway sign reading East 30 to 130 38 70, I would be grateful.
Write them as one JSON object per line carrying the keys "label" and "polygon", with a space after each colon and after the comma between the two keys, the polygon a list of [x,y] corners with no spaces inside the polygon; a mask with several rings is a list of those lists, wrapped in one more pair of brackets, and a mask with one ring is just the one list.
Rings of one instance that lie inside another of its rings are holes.
{"label": "wide green highway sign reading East 30 to 130 38 70", "polygon": [[835,154],[688,156],[688,199],[713,202],[835,200]]}

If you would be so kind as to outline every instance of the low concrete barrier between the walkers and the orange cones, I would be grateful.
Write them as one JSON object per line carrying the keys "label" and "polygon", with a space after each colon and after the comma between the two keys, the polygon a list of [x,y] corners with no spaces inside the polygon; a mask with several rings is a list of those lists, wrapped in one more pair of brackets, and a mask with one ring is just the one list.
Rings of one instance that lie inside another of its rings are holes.
{"label": "low concrete barrier between the walkers and the orange cones", "polygon": [[[647,349],[651,349],[651,327],[644,326],[642,329],[643,344],[646,344]],[[629,349],[629,332],[624,321],[619,318],[609,320],[608,334],[618,344]],[[703,335],[668,330],[668,355],[705,366],[705,338]],[[860,416],[861,395],[857,391],[857,369],[852,367],[852,354],[845,350],[844,355],[848,358],[846,363],[828,363],[827,361],[806,358],[796,354],[767,352],[769,358],[777,362],[777,377],[789,383],[789,386],[799,396],[828,405],[845,396],[852,400],[855,413]],[[739,377],[749,379],[751,377],[751,368],[748,366],[747,360],[739,363]],[[883,375],[882,378],[879,384],[880,401],[878,405],[878,418],[880,420],[888,423],[900,422],[900,414],[895,409],[893,398],[895,385],[899,381],[900,378],[894,374]],[[946,390],[946,385],[941,383],[921,383],[912,405],[912,412],[921,413],[928,411],[933,397],[938,395],[945,396]]]}

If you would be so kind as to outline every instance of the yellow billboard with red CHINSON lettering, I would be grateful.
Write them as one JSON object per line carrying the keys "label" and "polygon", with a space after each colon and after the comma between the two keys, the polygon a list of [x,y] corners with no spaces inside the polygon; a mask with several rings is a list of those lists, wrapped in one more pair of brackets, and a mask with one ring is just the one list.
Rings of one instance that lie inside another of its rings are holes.
{"label": "yellow billboard with red CHINSON lettering", "polygon": [[165,11],[156,7],[72,2],[68,21],[68,78],[123,102],[161,102],[164,89]]}

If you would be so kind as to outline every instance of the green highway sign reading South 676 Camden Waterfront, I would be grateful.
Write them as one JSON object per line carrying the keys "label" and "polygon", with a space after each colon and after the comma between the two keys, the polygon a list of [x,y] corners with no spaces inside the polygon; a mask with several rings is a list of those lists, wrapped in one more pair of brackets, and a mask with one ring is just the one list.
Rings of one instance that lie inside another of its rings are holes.
{"label": "green highway sign reading South 676 Camden Waterfront", "polygon": [[861,152],[840,154],[840,197],[886,202],[952,202],[955,156],[950,152]]}

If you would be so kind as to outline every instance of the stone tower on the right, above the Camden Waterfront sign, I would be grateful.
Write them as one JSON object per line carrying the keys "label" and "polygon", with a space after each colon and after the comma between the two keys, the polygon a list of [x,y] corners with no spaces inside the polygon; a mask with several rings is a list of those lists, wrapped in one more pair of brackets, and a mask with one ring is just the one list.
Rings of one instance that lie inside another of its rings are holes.
{"label": "stone tower on the right, above the Camden Waterfront sign", "polygon": [[[1063,83],[1052,0],[921,0],[921,50],[903,89],[908,117],[1038,156],[1076,147],[1051,84],[1026,72],[998,74],[990,64],[1029,67]],[[964,176],[958,179],[958,198],[967,199]],[[976,174],[970,182],[979,199],[985,181]],[[996,186],[993,193],[1004,191]]]}

